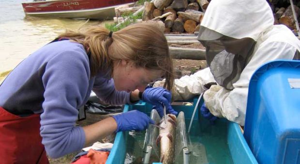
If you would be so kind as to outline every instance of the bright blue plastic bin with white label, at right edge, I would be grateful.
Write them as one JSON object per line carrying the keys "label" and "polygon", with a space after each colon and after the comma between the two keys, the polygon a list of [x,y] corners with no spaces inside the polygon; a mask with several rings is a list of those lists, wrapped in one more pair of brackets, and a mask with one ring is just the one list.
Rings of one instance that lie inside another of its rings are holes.
{"label": "bright blue plastic bin with white label, at right edge", "polygon": [[273,61],[255,71],[244,137],[259,164],[300,164],[300,61]]}

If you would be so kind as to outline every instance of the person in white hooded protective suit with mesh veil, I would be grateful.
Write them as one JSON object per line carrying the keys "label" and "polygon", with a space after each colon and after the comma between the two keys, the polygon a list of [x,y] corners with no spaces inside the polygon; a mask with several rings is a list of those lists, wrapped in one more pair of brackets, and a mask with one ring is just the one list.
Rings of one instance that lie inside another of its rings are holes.
{"label": "person in white hooded protective suit with mesh veil", "polygon": [[217,82],[203,95],[206,107],[243,126],[254,71],[272,60],[300,58],[298,38],[273,22],[266,0],[211,0],[198,34],[209,67],[176,79],[172,100],[193,98],[205,91],[206,83]]}

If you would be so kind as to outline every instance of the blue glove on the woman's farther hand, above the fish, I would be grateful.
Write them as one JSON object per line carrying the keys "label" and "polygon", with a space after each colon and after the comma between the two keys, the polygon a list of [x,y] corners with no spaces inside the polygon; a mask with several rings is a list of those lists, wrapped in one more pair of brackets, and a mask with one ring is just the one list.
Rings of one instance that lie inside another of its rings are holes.
{"label": "blue glove on the woman's farther hand, above the fish", "polygon": [[165,105],[165,112],[166,114],[173,114],[177,115],[178,112],[176,112],[172,106],[171,106],[171,97],[172,94],[162,87],[156,87],[156,88],[146,88],[143,93],[143,100],[154,105],[154,109],[157,110],[159,116],[164,116],[164,107]]}

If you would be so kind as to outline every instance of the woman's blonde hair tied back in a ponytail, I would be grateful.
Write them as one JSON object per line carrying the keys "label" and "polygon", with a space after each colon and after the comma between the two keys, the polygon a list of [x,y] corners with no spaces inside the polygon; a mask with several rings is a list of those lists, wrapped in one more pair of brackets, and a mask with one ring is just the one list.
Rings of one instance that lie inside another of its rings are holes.
{"label": "woman's blonde hair tied back in a ponytail", "polygon": [[173,62],[165,35],[156,25],[136,23],[111,36],[109,33],[103,27],[91,26],[77,32],[68,30],[59,37],[70,38],[90,48],[91,76],[95,76],[101,68],[112,69],[113,62],[129,60],[137,67],[163,70],[166,79],[164,87],[172,89]]}

